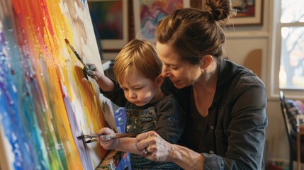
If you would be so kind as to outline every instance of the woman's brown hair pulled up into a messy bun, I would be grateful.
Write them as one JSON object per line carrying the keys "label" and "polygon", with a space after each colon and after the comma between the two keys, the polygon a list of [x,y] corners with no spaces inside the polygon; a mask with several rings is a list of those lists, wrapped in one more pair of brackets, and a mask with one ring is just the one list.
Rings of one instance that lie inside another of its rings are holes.
{"label": "woman's brown hair pulled up into a messy bun", "polygon": [[157,41],[167,44],[191,64],[198,64],[204,55],[224,55],[225,34],[222,26],[236,11],[229,0],[206,0],[206,11],[181,8],[157,24]]}

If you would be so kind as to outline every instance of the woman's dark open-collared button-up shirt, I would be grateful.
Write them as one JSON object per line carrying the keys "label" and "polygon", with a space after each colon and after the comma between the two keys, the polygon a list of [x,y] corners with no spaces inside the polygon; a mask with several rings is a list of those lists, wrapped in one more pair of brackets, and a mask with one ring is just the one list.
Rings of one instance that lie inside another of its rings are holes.
{"label": "woman's dark open-collared button-up shirt", "polygon": [[186,113],[179,144],[203,154],[203,169],[264,169],[266,89],[256,74],[220,59],[206,118],[198,114],[192,86],[176,89],[166,78],[163,88],[176,96]]}

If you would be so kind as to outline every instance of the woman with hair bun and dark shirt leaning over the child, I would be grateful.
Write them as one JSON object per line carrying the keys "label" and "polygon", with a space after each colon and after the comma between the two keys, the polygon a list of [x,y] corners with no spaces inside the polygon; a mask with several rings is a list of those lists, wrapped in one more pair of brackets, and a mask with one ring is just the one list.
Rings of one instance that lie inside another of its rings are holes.
{"label": "woman with hair bun and dark shirt leaning over the child", "polygon": [[153,131],[138,135],[136,147],[147,159],[183,169],[264,169],[265,86],[223,59],[222,26],[233,13],[229,0],[206,0],[206,11],[183,8],[158,23],[164,89],[183,106],[186,129],[179,145]]}

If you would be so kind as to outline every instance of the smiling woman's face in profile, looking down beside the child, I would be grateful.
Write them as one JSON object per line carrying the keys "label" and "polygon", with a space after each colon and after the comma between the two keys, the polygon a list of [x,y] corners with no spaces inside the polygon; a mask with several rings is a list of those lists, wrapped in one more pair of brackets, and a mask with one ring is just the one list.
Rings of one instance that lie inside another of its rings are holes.
{"label": "smiling woman's face in profile, looking down beside the child", "polygon": [[157,42],[156,49],[163,62],[162,76],[169,77],[176,88],[181,89],[198,81],[202,74],[199,65],[182,61],[169,45]]}

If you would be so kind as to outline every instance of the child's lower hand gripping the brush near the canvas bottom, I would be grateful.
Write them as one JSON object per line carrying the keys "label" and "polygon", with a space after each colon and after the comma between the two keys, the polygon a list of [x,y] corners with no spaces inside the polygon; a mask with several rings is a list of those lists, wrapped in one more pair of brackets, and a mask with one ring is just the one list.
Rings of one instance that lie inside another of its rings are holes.
{"label": "child's lower hand gripping the brush near the canvas bottom", "polygon": [[[111,130],[110,128],[102,128],[101,130],[99,130],[99,132],[97,133],[98,135],[99,134],[102,134],[102,135],[115,135],[115,132],[113,130]],[[100,142],[101,144],[101,147],[103,147],[104,149],[115,149],[118,145],[118,140],[103,140],[104,137],[101,136],[98,138],[98,141]]]}

